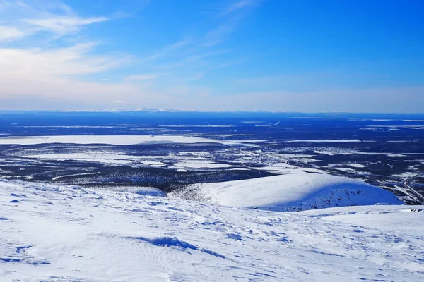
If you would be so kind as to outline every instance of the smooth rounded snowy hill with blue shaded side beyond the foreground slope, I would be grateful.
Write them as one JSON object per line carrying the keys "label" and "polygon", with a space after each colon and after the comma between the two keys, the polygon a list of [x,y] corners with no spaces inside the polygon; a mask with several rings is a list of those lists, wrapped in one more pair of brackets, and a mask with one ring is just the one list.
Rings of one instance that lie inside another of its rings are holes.
{"label": "smooth rounded snowy hill with blue shaded side beyond the foreground slope", "polygon": [[339,176],[295,172],[249,180],[191,185],[175,197],[231,207],[300,211],[377,203],[403,204],[387,190]]}

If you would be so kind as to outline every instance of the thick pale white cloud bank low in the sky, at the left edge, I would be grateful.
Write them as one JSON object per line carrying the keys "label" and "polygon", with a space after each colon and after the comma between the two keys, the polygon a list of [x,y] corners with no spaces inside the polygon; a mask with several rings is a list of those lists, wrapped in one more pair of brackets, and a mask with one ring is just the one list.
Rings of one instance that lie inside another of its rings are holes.
{"label": "thick pale white cloud bank low in the sky, at the left edge", "polygon": [[89,82],[95,75],[124,66],[130,56],[93,55],[95,42],[56,49],[0,48],[0,98],[33,96],[86,101],[113,99],[120,92],[135,94],[133,85]]}

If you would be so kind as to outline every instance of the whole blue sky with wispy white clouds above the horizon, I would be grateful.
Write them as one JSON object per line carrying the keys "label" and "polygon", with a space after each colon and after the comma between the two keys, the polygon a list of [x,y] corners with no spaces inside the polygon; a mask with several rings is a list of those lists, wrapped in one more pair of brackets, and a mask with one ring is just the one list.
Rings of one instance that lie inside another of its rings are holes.
{"label": "whole blue sky with wispy white clouds above the horizon", "polygon": [[0,0],[0,109],[424,112],[424,1]]}

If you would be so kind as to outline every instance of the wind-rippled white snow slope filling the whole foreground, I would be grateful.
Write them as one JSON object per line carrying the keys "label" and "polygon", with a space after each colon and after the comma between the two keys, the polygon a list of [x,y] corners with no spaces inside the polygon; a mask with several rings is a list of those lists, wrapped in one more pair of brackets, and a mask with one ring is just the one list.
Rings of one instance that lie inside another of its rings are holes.
{"label": "wind-rippled white snow slope filling the whole foreground", "polygon": [[[420,281],[423,208],[282,213],[0,182],[0,281]],[[377,224],[391,219],[403,228]]]}

